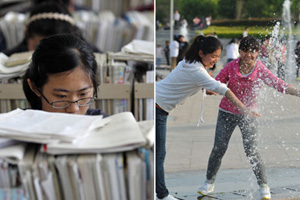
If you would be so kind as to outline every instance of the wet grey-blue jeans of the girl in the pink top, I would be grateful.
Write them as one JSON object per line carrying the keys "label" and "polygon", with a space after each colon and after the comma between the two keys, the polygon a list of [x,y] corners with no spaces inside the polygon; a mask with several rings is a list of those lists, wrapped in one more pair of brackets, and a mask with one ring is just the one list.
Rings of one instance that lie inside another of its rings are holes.
{"label": "wet grey-blue jeans of the girl in the pink top", "polygon": [[214,147],[208,161],[207,180],[210,183],[215,181],[230,137],[236,126],[239,126],[241,130],[244,150],[250,160],[258,185],[267,184],[264,163],[257,147],[257,120],[245,115],[235,115],[221,110],[218,114]]}

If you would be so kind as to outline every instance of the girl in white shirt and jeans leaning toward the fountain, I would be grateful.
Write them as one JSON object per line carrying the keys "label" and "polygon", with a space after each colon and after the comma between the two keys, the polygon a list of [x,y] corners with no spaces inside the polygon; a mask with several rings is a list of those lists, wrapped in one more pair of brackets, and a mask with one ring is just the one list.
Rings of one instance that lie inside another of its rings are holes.
{"label": "girl in white shirt and jeans leaning toward the fountain", "polygon": [[158,199],[175,200],[165,184],[164,160],[166,156],[167,118],[169,113],[202,88],[208,94],[226,96],[238,110],[251,116],[250,111],[239,101],[225,84],[213,79],[205,68],[212,68],[220,59],[221,42],[215,37],[196,37],[185,58],[163,80],[156,83],[156,193]]}

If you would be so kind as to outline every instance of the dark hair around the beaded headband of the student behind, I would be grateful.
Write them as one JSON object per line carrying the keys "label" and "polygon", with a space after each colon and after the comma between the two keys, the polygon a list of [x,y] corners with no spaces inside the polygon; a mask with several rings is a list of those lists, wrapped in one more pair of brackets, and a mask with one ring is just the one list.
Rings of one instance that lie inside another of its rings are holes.
{"label": "dark hair around the beaded headband of the student behind", "polygon": [[[30,17],[41,13],[60,13],[72,17],[64,5],[51,1],[35,6],[30,13]],[[75,34],[77,32],[77,27],[67,21],[46,18],[31,22],[27,26],[26,38],[33,38],[36,35],[47,37],[55,34]]]}

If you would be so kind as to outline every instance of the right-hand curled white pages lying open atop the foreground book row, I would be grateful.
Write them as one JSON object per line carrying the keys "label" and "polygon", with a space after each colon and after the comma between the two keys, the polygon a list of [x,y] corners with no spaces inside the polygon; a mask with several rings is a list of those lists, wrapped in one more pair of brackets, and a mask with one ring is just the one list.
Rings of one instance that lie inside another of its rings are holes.
{"label": "right-hand curled white pages lying open atop the foreground book row", "polygon": [[138,123],[131,112],[123,112],[105,119],[110,122],[101,129],[94,130],[78,144],[48,144],[50,154],[115,152],[133,149],[146,144]]}

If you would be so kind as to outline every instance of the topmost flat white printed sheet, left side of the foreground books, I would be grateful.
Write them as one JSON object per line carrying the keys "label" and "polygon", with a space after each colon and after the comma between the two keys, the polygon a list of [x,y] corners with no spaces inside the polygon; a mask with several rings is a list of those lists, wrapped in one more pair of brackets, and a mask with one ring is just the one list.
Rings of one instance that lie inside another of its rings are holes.
{"label": "topmost flat white printed sheet, left side of the foreground books", "polygon": [[1,120],[0,129],[28,134],[57,134],[65,136],[86,132],[91,129],[91,124],[94,123],[101,127],[103,125],[101,119],[101,115],[70,115],[40,110],[25,110],[14,117]]}

